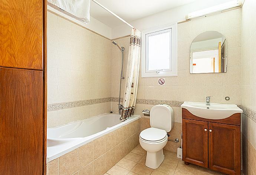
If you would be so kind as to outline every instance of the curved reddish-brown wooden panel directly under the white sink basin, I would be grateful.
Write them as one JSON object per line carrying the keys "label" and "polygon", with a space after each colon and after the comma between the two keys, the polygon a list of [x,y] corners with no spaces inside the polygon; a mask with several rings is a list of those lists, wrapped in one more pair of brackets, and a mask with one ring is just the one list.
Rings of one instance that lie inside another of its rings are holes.
{"label": "curved reddish-brown wooden panel directly under the white sink basin", "polygon": [[212,120],[212,119],[205,119],[201,118],[199,116],[193,115],[190,113],[187,109],[182,108],[182,118],[183,119],[191,119],[191,120],[199,120],[199,121],[205,121],[205,122],[213,122],[213,123],[223,123],[223,124],[229,124],[229,125],[241,125],[241,114],[235,113],[232,116],[225,118],[225,119],[219,119],[219,120]]}

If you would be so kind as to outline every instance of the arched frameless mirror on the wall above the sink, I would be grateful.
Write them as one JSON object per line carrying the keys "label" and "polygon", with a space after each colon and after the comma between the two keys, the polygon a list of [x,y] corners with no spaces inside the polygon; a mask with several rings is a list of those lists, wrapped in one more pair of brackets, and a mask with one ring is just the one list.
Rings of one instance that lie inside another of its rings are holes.
{"label": "arched frameless mirror on the wall above the sink", "polygon": [[227,41],[219,32],[199,34],[190,47],[190,73],[227,72]]}

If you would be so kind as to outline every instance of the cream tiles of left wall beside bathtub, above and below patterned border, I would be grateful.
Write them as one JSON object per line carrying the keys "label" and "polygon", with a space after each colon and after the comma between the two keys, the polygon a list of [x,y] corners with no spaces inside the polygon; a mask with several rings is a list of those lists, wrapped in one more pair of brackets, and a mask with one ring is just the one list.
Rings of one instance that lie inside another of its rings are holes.
{"label": "cream tiles of left wall beside bathtub, above and below patterned border", "polygon": [[[111,97],[110,72],[109,39],[47,13],[48,105]],[[99,103],[49,111],[47,127],[63,125],[110,110],[111,103],[101,100]]]}

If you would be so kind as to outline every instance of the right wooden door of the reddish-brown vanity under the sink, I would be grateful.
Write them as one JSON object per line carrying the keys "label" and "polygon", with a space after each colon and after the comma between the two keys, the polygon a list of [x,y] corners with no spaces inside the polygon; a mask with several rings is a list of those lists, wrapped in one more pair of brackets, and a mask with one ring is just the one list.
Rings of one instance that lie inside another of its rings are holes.
{"label": "right wooden door of the reddish-brown vanity under the sink", "polygon": [[240,126],[209,122],[209,168],[240,175]]}

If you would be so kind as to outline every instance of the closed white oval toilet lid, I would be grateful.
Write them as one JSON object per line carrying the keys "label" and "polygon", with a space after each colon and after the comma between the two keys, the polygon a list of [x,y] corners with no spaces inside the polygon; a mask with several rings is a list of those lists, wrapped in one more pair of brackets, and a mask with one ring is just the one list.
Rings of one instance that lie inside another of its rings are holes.
{"label": "closed white oval toilet lid", "polygon": [[140,133],[140,137],[146,141],[160,141],[166,137],[167,133],[163,129],[148,128]]}

